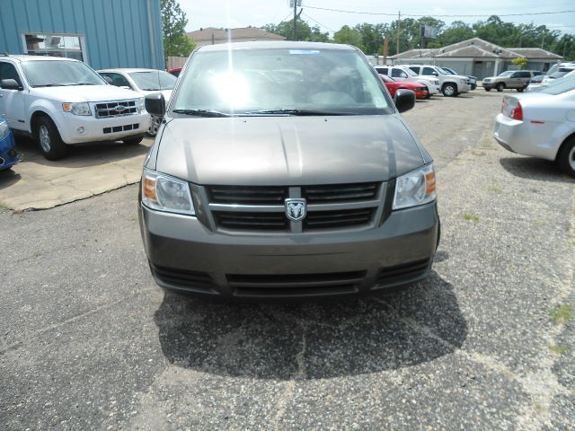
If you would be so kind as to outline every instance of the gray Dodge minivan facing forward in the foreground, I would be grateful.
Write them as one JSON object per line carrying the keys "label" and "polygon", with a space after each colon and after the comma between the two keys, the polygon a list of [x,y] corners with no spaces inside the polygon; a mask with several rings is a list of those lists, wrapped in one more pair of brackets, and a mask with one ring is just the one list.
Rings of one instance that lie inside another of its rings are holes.
{"label": "gray Dodge minivan facing forward in the foreground", "polygon": [[426,277],[435,172],[367,58],[347,45],[195,50],[146,156],[139,220],[164,288],[224,299],[375,293]]}

